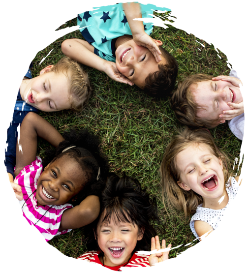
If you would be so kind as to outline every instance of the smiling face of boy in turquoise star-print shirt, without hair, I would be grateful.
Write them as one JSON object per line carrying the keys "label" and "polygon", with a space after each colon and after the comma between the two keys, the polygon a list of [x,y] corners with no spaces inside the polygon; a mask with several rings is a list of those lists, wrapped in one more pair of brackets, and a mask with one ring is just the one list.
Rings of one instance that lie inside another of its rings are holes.
{"label": "smiling face of boy in turquoise star-print shirt, without hair", "polygon": [[[155,43],[162,45],[158,40]],[[161,56],[161,59],[162,61],[156,62],[152,52],[144,46],[138,46],[133,39],[119,45],[116,50],[117,69],[140,88],[144,87],[145,79],[150,73],[159,70],[158,64],[166,63],[164,57]]]}

